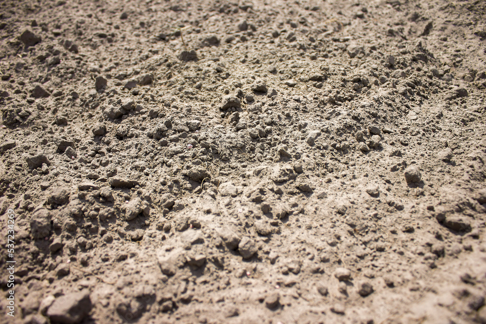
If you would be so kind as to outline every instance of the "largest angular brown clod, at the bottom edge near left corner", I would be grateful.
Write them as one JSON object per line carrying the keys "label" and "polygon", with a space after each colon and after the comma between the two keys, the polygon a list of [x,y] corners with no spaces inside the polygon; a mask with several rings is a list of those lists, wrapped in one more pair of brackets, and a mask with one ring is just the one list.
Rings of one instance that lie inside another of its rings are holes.
{"label": "largest angular brown clod, at the bottom edge near left corner", "polygon": [[89,292],[73,292],[58,297],[47,310],[47,316],[52,322],[77,324],[87,317],[91,308]]}

